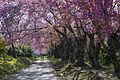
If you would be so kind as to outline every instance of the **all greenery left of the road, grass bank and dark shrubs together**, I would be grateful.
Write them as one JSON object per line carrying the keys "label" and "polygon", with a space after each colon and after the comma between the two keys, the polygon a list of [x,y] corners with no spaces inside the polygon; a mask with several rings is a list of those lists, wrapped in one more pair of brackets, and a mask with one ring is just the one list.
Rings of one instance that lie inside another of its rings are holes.
{"label": "all greenery left of the road, grass bank and dark shrubs together", "polygon": [[[33,56],[33,51],[26,46],[18,46],[13,48],[7,48],[4,41],[0,38],[0,79],[7,79],[9,75],[14,74],[27,67],[36,60]],[[18,58],[13,58],[17,55]],[[29,58],[28,58],[29,57]]]}

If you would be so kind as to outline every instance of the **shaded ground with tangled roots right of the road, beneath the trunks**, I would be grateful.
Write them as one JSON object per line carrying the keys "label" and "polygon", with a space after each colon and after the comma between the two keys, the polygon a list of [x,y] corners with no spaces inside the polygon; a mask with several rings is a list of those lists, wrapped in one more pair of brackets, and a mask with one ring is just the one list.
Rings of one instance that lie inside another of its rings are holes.
{"label": "shaded ground with tangled roots right of the road, beneath the trunks", "polygon": [[112,68],[95,70],[89,66],[75,67],[73,64],[59,59],[50,59],[50,61],[55,69],[55,74],[64,80],[120,80],[115,76]]}

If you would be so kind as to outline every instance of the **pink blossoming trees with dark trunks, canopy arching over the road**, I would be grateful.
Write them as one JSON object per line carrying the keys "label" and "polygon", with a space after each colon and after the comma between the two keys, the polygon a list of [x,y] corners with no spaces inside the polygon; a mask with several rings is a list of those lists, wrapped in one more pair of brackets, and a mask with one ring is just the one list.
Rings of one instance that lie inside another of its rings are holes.
{"label": "pink blossoming trees with dark trunks, canopy arching over the road", "polygon": [[101,68],[98,55],[105,48],[120,76],[119,0],[1,0],[0,4],[1,33],[8,44],[27,44],[40,51],[52,45],[49,50],[56,57],[74,58],[79,66],[85,65],[87,53],[96,69]]}

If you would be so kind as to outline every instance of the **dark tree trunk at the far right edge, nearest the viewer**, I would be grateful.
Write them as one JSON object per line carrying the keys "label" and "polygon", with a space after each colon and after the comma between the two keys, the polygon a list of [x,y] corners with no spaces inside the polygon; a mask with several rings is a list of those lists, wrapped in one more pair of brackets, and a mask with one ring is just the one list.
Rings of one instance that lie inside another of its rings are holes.
{"label": "dark tree trunk at the far right edge, nearest the viewer", "polygon": [[120,78],[120,64],[119,61],[117,60],[116,53],[119,50],[118,48],[119,44],[120,43],[118,42],[118,36],[116,34],[112,34],[109,38],[108,46],[110,48],[108,49],[108,54],[111,57],[114,66],[114,72],[116,73],[118,78]]}

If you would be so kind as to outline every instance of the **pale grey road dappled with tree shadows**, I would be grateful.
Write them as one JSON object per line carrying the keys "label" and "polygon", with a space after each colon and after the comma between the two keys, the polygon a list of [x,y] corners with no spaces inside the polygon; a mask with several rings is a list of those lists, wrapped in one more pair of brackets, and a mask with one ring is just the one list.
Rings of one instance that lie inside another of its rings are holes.
{"label": "pale grey road dappled with tree shadows", "polygon": [[55,77],[53,71],[54,69],[48,60],[38,60],[9,80],[60,80],[60,78]]}

